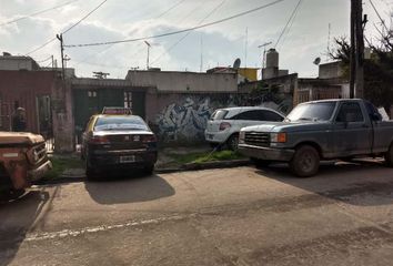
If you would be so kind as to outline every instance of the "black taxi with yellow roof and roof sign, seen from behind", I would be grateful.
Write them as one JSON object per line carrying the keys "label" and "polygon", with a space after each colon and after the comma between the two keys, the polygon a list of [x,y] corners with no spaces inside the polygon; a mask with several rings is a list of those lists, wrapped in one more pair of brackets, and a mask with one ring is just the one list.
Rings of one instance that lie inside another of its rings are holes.
{"label": "black taxi with yellow roof and roof sign, seen from behind", "polygon": [[158,156],[157,137],[130,109],[104,108],[90,117],[81,154],[89,178],[107,170],[142,168],[151,174]]}

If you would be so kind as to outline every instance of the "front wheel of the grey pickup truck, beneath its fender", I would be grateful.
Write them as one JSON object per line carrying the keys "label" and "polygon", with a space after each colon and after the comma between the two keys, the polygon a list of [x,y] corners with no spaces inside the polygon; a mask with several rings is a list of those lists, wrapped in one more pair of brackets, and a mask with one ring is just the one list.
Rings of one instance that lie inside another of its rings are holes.
{"label": "front wheel of the grey pickup truck, beneath its fender", "polygon": [[309,177],[316,174],[320,167],[318,151],[309,145],[300,146],[290,161],[290,168],[299,177]]}

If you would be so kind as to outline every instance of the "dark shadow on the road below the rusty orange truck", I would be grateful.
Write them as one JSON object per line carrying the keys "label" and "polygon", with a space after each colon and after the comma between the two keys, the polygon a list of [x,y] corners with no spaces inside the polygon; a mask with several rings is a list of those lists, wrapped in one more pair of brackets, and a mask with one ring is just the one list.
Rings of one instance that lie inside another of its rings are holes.
{"label": "dark shadow on the road below the rusty orange truck", "polygon": [[0,266],[13,260],[48,200],[48,192],[30,191],[17,201],[0,204]]}

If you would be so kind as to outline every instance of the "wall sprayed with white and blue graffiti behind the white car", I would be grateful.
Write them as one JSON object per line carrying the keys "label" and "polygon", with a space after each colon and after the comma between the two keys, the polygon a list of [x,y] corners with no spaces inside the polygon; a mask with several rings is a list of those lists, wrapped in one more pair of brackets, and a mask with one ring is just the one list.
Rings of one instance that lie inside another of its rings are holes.
{"label": "wall sprayed with white and blue graffiti behind the white car", "polygon": [[274,102],[263,96],[242,94],[178,94],[161,95],[159,102],[165,104],[155,115],[153,127],[160,142],[198,143],[204,141],[204,130],[211,114],[220,108],[266,106],[286,113],[292,109],[292,98],[284,96]]}

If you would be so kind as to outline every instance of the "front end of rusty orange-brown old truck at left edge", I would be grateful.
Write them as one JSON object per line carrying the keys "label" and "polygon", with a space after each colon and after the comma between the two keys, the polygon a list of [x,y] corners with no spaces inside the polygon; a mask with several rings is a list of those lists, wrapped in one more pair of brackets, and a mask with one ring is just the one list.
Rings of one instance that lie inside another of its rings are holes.
{"label": "front end of rusty orange-brown old truck at left edge", "polygon": [[41,135],[22,132],[0,132],[0,195],[12,196],[50,168],[46,142]]}

